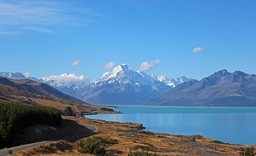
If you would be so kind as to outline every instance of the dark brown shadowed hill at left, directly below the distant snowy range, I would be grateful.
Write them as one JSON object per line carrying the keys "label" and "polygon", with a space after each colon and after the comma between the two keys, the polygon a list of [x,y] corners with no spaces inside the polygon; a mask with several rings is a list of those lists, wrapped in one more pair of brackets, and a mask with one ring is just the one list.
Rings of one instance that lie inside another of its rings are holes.
{"label": "dark brown shadowed hill at left, directly below the distant snowy range", "polygon": [[48,97],[53,97],[53,98],[59,98],[63,100],[68,100],[72,101],[75,103],[80,103],[80,104],[87,104],[84,101],[81,101],[73,96],[69,96],[67,94],[64,94],[60,92],[59,90],[53,88],[52,86],[49,86],[46,83],[42,82],[36,82],[33,80],[29,79],[20,79],[20,80],[14,80],[8,77],[0,76],[0,83],[12,87],[16,87],[18,89],[22,89],[24,91],[33,93],[33,94],[39,94],[39,95],[44,95]]}

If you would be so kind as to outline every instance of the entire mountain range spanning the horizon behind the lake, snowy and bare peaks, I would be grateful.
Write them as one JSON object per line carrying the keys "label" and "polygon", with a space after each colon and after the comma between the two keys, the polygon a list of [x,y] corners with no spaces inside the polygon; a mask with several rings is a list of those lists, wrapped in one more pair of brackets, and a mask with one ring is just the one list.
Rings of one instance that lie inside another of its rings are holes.
{"label": "entire mountain range spanning the horizon behind the lake, snowy and bare peaks", "polygon": [[[148,75],[142,71],[130,70],[126,64],[122,64],[104,73],[99,80],[91,79],[93,81],[84,88],[76,83],[67,85],[56,80],[26,77],[20,72],[1,72],[1,75],[12,78],[9,80],[12,83],[13,79],[22,78],[19,82],[23,83],[21,88],[13,84],[6,85],[29,91],[29,87],[24,86],[35,83],[31,80],[41,81],[64,93],[70,89],[70,93],[74,93],[77,100],[96,105],[256,106],[256,75],[241,71],[229,73],[225,69],[197,81],[185,76],[167,79],[163,75]],[[60,77],[68,75],[64,73]],[[3,80],[2,77],[1,79]],[[39,87],[34,87],[41,93],[32,93],[54,97],[50,91],[45,92],[42,86],[40,84]],[[58,96],[64,99],[67,97]]]}

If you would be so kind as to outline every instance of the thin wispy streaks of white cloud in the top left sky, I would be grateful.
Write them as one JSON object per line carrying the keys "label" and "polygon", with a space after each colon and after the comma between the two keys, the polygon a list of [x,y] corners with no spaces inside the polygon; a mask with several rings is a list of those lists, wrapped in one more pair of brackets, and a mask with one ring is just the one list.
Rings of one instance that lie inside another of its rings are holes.
{"label": "thin wispy streaks of white cloud in the top left sky", "polygon": [[0,0],[0,34],[19,35],[24,29],[43,33],[73,31],[108,18],[106,15],[69,3],[31,0]]}

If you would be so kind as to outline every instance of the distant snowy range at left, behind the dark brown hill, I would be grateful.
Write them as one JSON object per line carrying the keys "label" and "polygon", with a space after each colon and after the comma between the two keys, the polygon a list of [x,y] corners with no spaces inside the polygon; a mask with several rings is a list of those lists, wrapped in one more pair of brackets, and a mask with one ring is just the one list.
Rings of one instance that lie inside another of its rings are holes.
{"label": "distant snowy range at left, behind the dark brown hill", "polygon": [[[68,73],[61,74],[60,76],[65,77],[68,76]],[[21,72],[16,72],[16,73],[11,73],[11,72],[1,72],[0,76],[6,76],[12,79],[20,80],[20,79],[30,79],[36,82],[42,82],[46,83],[53,88],[61,91],[62,93],[68,94],[70,96],[73,96],[77,91],[79,91],[81,88],[84,86],[78,86],[75,83],[64,83],[64,82],[59,82],[57,80],[51,80],[51,79],[37,79],[35,77],[26,77],[23,75]],[[89,85],[90,82],[95,82],[96,80],[93,79],[86,79],[86,83]]]}

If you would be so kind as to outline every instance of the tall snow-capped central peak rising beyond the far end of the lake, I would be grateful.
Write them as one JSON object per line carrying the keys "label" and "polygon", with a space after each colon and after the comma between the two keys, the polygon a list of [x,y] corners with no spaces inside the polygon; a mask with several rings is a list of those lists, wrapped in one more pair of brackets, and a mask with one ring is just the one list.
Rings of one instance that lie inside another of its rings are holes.
{"label": "tall snow-capped central peak rising beyond the far end of the lake", "polygon": [[[80,89],[74,96],[91,104],[136,105],[144,104],[151,97],[163,96],[175,84],[189,80],[186,77],[177,80],[167,79],[145,72],[129,70],[126,64],[119,65],[104,73],[98,82]],[[173,83],[173,84],[172,84]]]}

